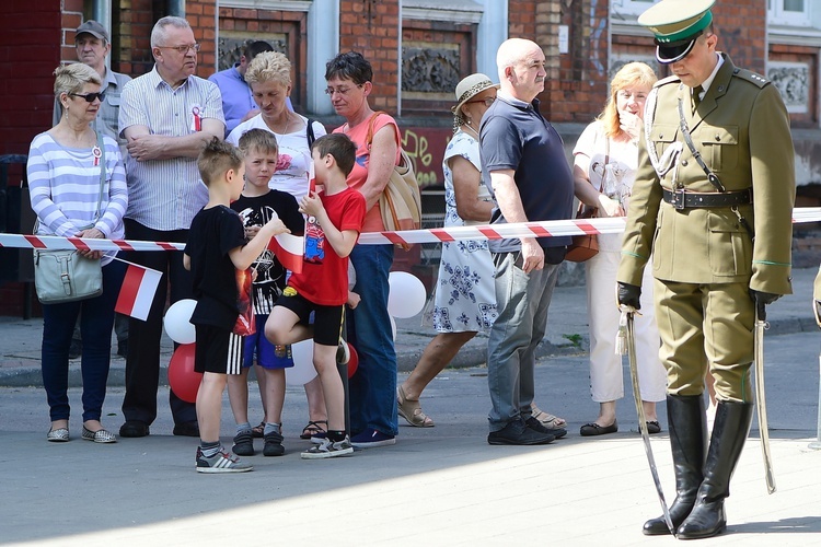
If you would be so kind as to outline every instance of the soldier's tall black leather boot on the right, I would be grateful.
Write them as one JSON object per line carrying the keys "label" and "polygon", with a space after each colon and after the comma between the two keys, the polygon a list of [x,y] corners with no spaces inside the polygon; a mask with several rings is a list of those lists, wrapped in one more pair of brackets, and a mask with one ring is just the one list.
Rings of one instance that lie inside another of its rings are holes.
{"label": "soldier's tall black leather boot on the right", "polygon": [[744,447],[752,422],[752,403],[720,401],[713,423],[704,481],[695,507],[679,529],[680,539],[697,539],[720,534],[727,527],[724,500],[730,494],[730,477]]}

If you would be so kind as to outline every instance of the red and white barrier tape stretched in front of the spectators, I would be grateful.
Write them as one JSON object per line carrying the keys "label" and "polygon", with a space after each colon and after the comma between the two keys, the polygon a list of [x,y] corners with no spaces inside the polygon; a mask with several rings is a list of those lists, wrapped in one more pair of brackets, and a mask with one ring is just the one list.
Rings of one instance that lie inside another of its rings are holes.
{"label": "red and white barrier tape stretched in front of the spectators", "polygon": [[[517,224],[433,228],[403,232],[365,232],[359,243],[383,245],[390,243],[440,243],[462,240],[506,240],[514,237],[554,237],[559,235],[615,234],[624,231],[624,217],[609,219],[550,220]],[[793,209],[793,223],[821,221],[821,207]],[[91,251],[183,251],[184,243],[148,242],[136,240],[91,240],[54,235],[0,234],[0,247],[91,249]]]}

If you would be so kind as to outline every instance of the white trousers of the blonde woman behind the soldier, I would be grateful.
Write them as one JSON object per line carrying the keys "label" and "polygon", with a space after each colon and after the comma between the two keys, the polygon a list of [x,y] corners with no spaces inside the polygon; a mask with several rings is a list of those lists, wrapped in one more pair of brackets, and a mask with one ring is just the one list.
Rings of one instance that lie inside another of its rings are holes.
{"label": "white trousers of the blonde woman behind the soldier", "polygon": [[[616,303],[616,270],[620,252],[600,251],[585,263],[587,309],[590,324],[590,393],[597,403],[624,397],[622,356],[615,353],[620,312]],[[641,310],[635,316],[638,386],[641,400],[660,401],[667,396],[667,373],[659,359],[661,339],[652,302],[652,275],[645,268]],[[625,361],[626,363],[626,361]]]}

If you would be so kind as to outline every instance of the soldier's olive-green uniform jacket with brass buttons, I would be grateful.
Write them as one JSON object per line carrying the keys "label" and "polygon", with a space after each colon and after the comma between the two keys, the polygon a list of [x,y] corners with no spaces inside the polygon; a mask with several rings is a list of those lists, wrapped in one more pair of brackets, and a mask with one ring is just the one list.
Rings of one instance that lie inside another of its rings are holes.
{"label": "soldier's olive-green uniform jacket with brass buttons", "polygon": [[[774,85],[736,68],[729,56],[692,112],[691,90],[678,78],[660,80],[651,131],[640,139],[638,171],[625,229],[618,281],[640,286],[652,254],[654,277],[686,283],[748,283],[775,294],[791,293],[790,261],[795,203],[795,156],[789,116]],[[677,210],[662,201],[662,187],[717,191],[684,143],[679,97],[693,143],[727,191],[753,190],[753,203]],[[648,107],[649,110],[649,107]],[[645,116],[648,112],[645,113]],[[662,156],[681,142],[673,167],[659,177],[648,155]]]}

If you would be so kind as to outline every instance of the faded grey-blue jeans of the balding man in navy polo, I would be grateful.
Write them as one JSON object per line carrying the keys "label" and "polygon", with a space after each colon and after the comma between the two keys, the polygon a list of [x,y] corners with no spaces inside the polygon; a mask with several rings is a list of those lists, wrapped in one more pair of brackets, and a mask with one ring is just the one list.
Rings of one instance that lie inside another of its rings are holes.
{"label": "faded grey-blue jeans of the balding man in navy polo", "polygon": [[535,350],[547,328],[547,307],[559,265],[524,274],[520,253],[494,255],[499,316],[487,342],[487,385],[493,408],[490,431],[530,416],[534,395]]}

